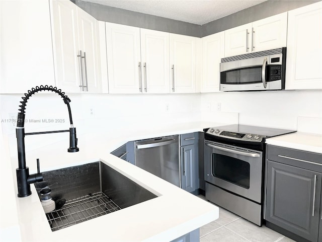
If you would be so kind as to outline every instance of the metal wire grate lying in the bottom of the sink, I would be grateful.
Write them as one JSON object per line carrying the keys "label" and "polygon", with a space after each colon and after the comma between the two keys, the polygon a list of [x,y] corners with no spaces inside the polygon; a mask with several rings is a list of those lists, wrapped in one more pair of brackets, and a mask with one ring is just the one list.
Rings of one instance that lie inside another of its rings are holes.
{"label": "metal wire grate lying in the bottom of the sink", "polygon": [[51,230],[56,231],[121,208],[102,192],[92,193],[66,201],[58,210],[47,213]]}

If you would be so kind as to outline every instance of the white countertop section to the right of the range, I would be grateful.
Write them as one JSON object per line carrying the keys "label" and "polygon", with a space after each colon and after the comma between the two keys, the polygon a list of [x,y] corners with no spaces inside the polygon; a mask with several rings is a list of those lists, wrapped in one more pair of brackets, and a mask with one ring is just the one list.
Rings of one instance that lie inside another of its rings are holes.
{"label": "white countertop section to the right of the range", "polygon": [[266,140],[269,145],[322,154],[322,134],[295,132]]}

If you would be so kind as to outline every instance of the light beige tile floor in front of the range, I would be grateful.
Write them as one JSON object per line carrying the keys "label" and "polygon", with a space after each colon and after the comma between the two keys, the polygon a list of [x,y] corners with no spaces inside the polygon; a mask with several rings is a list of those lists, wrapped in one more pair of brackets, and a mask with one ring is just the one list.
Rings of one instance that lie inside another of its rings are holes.
{"label": "light beige tile floor in front of the range", "polygon": [[[205,197],[198,195],[201,199]],[[219,218],[200,228],[200,242],[293,242],[270,228],[259,227],[219,207]]]}

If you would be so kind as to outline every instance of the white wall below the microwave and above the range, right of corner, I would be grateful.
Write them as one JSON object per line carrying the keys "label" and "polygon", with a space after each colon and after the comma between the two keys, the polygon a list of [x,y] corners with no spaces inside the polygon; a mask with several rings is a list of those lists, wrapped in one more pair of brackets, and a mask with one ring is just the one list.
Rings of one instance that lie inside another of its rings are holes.
{"label": "white wall below the microwave and above the range, right of corner", "polygon": [[[201,95],[201,110],[238,112],[239,124],[297,130],[297,118],[322,117],[322,91],[221,92]],[[322,124],[321,124],[322,125]]]}

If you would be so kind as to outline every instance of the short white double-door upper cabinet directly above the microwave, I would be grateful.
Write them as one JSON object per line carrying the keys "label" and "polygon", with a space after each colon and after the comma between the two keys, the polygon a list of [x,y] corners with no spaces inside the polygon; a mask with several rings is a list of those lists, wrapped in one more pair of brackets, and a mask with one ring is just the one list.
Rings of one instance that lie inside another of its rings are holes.
{"label": "short white double-door upper cabinet directly above the microwave", "polygon": [[225,31],[225,57],[286,46],[287,13]]}

